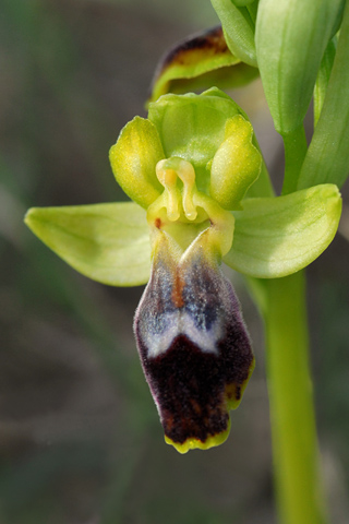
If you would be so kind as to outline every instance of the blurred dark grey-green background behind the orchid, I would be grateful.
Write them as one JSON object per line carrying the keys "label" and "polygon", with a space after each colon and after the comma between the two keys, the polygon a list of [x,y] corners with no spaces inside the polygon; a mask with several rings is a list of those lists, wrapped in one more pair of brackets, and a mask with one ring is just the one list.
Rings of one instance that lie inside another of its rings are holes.
{"label": "blurred dark grey-green background behind the orchid", "polygon": [[[217,23],[208,0],[1,0],[0,524],[276,523],[263,326],[239,275],[257,367],[226,444],[180,455],[164,442],[133,341],[143,289],[84,278],[22,222],[29,206],[125,199],[109,147],[145,116],[165,49]],[[232,96],[280,188],[261,83]],[[345,524],[348,214],[341,231],[308,274],[324,477]]]}

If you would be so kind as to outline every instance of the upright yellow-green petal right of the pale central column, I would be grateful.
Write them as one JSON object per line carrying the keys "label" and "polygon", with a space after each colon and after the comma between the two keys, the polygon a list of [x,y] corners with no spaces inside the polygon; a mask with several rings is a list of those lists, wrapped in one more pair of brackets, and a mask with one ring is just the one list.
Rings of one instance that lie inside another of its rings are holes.
{"label": "upright yellow-green petal right of the pale central column", "polygon": [[226,210],[234,210],[257,179],[262,156],[252,144],[253,129],[241,115],[226,123],[226,140],[214,156],[210,195]]}

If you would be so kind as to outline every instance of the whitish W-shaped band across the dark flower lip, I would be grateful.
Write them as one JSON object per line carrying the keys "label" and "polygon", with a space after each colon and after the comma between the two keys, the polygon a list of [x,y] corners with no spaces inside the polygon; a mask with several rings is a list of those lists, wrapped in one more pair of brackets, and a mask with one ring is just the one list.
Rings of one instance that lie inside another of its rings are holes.
{"label": "whitish W-shaped band across the dark flower lip", "polygon": [[[156,322],[155,319],[154,321]],[[181,311],[166,313],[164,321],[167,327],[163,333],[156,334],[156,329],[152,330],[151,321],[148,330],[143,335],[148,357],[155,358],[166,353],[179,335],[185,335],[203,353],[218,353],[216,343],[221,337],[220,322],[213,322],[209,330],[200,330],[190,314]]]}

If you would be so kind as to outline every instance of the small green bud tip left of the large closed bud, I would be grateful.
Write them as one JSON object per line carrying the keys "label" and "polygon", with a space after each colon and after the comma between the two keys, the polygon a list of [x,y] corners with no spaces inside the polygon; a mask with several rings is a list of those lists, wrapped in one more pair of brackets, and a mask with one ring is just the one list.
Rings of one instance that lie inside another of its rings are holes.
{"label": "small green bud tip left of the large closed bud", "polygon": [[245,7],[231,0],[210,0],[222,25],[231,52],[250,66],[257,67],[254,44],[254,21]]}

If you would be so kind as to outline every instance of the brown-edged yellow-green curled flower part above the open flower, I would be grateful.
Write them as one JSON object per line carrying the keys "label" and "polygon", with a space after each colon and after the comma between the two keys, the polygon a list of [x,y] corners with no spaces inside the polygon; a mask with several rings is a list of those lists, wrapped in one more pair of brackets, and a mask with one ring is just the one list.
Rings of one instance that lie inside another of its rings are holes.
{"label": "brown-edged yellow-green curled flower part above the open flower", "polygon": [[234,57],[220,26],[177,44],[159,62],[148,103],[167,93],[188,93],[210,85],[237,88],[250,83],[258,70]]}

